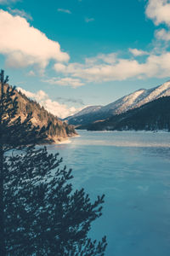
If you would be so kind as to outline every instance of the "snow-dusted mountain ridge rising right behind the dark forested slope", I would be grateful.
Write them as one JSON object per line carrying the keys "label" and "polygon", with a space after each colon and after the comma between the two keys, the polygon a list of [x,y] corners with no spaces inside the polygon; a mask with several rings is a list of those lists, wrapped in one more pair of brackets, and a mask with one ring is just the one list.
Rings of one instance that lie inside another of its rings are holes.
{"label": "snow-dusted mountain ridge rising right behind the dark forested slope", "polygon": [[149,90],[136,90],[104,107],[91,106],[84,108],[81,112],[69,117],[68,121],[72,125],[87,125],[96,120],[107,119],[117,113],[124,113],[129,109],[139,108],[145,103],[154,101],[162,96],[170,96],[170,81]]}

